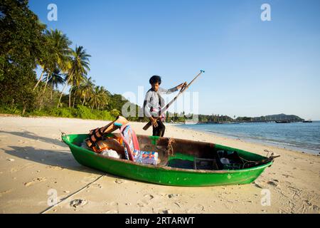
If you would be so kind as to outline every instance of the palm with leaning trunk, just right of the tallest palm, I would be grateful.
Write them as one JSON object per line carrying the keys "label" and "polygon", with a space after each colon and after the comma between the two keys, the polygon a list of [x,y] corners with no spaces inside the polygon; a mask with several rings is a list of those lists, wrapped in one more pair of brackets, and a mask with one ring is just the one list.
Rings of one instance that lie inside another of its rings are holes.
{"label": "palm with leaning trunk, just right of the tallest palm", "polygon": [[[59,107],[61,97],[63,95],[63,91],[67,85],[71,86],[79,86],[82,81],[85,80],[85,76],[87,75],[87,71],[90,71],[89,68],[89,54],[86,53],[85,49],[82,46],[75,46],[75,50],[71,52],[71,61],[70,66],[68,68],[67,78],[65,86],[61,92],[57,108]],[[69,108],[71,106],[71,88],[69,92]]]}

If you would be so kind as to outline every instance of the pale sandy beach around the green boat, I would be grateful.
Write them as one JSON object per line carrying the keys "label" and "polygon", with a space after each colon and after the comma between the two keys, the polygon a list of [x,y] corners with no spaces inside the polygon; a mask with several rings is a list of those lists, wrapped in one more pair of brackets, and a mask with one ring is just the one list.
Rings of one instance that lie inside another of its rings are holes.
{"label": "pale sandy beach around the green boat", "polygon": [[[53,189],[61,202],[46,213],[319,214],[319,155],[166,125],[166,137],[215,142],[261,155],[267,155],[268,150],[281,157],[250,185],[154,185],[83,167],[60,140],[60,130],[87,133],[106,124],[97,120],[0,116],[0,212],[43,212],[49,207],[48,190]],[[143,125],[132,123],[136,133],[151,135],[151,128],[144,131]],[[261,204],[263,189],[271,192],[270,206]],[[70,206],[74,199],[82,199],[83,204]]]}

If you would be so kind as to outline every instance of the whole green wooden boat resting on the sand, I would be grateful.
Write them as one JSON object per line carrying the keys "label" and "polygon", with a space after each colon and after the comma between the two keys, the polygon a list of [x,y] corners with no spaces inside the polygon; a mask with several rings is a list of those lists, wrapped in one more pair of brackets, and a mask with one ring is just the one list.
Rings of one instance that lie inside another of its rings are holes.
{"label": "whole green wooden boat resting on the sand", "polygon": [[[112,134],[110,134],[112,135]],[[119,136],[114,133],[113,135]],[[137,135],[141,150],[159,152],[159,165],[105,157],[80,147],[87,135],[62,135],[81,165],[142,182],[175,186],[240,185],[253,182],[270,167],[274,157],[209,142]],[[220,155],[238,155],[242,162],[223,165]]]}

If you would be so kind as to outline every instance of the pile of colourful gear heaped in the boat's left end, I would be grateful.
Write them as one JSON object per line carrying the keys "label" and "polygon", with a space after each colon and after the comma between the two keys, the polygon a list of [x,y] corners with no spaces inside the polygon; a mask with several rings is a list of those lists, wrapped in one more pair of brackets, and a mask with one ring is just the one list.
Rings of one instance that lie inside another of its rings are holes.
{"label": "pile of colourful gear heaped in the boat's left end", "polygon": [[[121,137],[108,136],[117,129],[120,129]],[[122,116],[105,127],[90,130],[89,137],[82,142],[81,147],[107,157],[125,157],[127,160],[150,165],[160,162],[158,152],[140,150],[137,135],[128,120]]]}

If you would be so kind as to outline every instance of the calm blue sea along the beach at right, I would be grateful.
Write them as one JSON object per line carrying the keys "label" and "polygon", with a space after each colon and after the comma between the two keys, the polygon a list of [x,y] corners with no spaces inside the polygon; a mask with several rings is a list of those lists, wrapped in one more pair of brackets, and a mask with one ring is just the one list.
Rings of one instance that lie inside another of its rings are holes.
{"label": "calm blue sea along the beach at right", "polygon": [[178,125],[178,127],[314,154],[320,152],[320,121],[312,123],[185,124]]}

